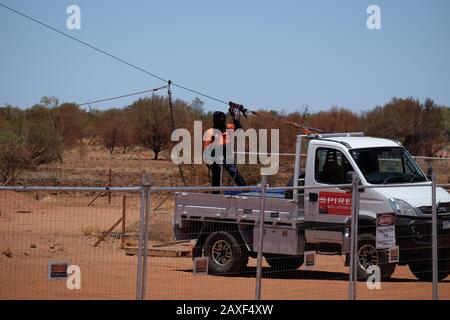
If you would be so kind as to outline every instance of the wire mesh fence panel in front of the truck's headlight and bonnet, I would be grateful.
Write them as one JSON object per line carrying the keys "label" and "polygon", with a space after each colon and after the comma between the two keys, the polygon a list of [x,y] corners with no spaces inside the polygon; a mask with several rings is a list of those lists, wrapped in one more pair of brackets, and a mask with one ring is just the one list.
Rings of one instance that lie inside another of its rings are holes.
{"label": "wire mesh fence panel in front of the truck's headlight and bonnet", "polygon": [[[394,259],[397,252],[389,253],[387,250],[375,257],[380,261],[381,287],[370,289],[360,283],[359,299],[432,299],[432,283],[425,280],[432,272],[431,220],[421,217],[419,212],[420,206],[431,208],[431,192],[431,184],[382,184],[364,188],[360,209],[379,213],[376,239],[381,240],[380,245],[383,245],[383,237],[393,235],[393,229],[383,225],[386,221],[384,214],[397,208],[395,245],[399,246],[400,255],[397,263],[389,261],[389,256]],[[390,204],[372,200],[379,198],[380,194],[388,195],[392,199]],[[392,275],[388,277],[389,274]]]}

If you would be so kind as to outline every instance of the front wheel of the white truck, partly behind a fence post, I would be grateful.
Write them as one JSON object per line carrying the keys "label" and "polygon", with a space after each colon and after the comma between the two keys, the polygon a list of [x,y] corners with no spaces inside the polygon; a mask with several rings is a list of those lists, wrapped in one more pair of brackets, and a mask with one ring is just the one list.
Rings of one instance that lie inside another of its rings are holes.
{"label": "front wheel of the white truck, partly behind a fence post", "polygon": [[358,236],[358,279],[366,280],[372,273],[367,272],[370,266],[380,268],[381,280],[389,279],[395,271],[395,263],[388,263],[387,251],[376,249],[376,240],[373,234],[361,234]]}

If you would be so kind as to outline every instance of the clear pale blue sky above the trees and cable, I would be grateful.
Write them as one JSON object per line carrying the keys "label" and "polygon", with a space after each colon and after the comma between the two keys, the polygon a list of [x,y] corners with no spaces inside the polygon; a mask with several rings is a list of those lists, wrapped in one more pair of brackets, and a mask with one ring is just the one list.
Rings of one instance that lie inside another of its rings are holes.
{"label": "clear pale blue sky above the trees and cable", "polygon": [[[253,109],[362,111],[394,96],[450,106],[447,0],[0,2],[164,78]],[[66,28],[71,4],[81,8],[81,30]],[[371,4],[381,8],[381,30],[366,27]],[[44,95],[81,103],[161,85],[1,7],[0,43],[0,104],[29,107]],[[224,107],[202,100],[207,110]]]}

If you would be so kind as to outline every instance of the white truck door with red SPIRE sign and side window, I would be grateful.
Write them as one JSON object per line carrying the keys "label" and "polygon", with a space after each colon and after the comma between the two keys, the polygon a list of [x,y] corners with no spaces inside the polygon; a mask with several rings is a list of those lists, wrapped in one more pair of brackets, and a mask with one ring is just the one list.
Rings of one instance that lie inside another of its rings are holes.
{"label": "white truck door with red SPIRE sign and side window", "polygon": [[333,185],[345,184],[347,172],[353,168],[338,148],[314,146],[311,149],[308,163],[314,167],[309,167],[306,185],[328,187],[305,190],[306,238],[312,243],[342,244],[342,233],[351,217],[352,194]]}

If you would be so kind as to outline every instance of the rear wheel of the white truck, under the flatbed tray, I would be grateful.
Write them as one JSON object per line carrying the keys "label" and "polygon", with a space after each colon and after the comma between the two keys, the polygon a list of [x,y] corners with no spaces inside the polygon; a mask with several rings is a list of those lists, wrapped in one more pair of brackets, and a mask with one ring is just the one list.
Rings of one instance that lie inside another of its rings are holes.
{"label": "rear wheel of the white truck, under the flatbed tray", "polygon": [[210,274],[241,273],[247,266],[247,248],[232,233],[211,233],[206,238],[203,249],[208,257]]}

